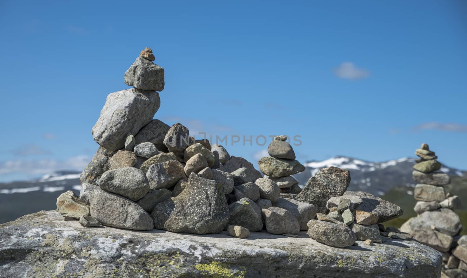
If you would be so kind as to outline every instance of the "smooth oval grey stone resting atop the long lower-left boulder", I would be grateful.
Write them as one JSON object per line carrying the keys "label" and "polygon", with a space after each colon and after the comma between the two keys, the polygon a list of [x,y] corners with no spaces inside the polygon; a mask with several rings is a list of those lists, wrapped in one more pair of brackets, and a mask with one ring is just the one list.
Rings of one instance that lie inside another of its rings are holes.
{"label": "smooth oval grey stone resting atop the long lower-left boulder", "polygon": [[140,169],[133,167],[107,171],[100,178],[99,187],[131,201],[138,201],[149,192],[146,175]]}

